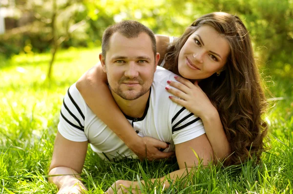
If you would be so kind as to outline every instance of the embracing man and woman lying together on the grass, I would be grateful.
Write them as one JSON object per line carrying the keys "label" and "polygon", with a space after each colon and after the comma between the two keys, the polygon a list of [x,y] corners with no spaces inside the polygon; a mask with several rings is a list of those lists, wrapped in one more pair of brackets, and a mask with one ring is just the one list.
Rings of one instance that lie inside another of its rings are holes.
{"label": "embracing man and woman lying together on the grass", "polygon": [[[267,103],[251,39],[237,16],[204,15],[179,38],[122,21],[105,30],[99,58],[63,100],[49,169],[58,193],[86,190],[79,174],[88,143],[108,160],[175,154],[179,170],[152,179],[165,188],[200,161],[230,165],[260,157]],[[126,180],[107,193],[129,187],[140,193],[138,182]]]}

